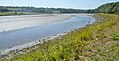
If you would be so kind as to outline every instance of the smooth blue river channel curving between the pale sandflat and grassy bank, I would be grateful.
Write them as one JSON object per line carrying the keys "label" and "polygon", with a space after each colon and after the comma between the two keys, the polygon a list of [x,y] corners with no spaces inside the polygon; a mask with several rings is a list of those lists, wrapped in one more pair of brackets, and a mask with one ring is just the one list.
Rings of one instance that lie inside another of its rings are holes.
{"label": "smooth blue river channel curving between the pale sandflat and grassy bank", "polygon": [[47,25],[1,32],[0,50],[29,43],[77,28],[82,28],[89,23],[93,23],[94,21],[95,19],[91,16],[81,15],[72,17],[71,19],[65,21],[55,22]]}

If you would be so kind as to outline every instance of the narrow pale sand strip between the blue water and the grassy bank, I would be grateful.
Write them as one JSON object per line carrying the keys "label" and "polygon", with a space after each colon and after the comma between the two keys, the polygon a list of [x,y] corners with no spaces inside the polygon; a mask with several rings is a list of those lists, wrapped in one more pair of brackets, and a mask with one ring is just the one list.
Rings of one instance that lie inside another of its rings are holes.
{"label": "narrow pale sand strip between the blue water and the grassy bank", "polygon": [[48,40],[52,40],[52,39],[58,38],[60,36],[63,36],[65,34],[67,34],[68,32],[69,31],[64,32],[64,33],[60,33],[60,34],[57,34],[57,35],[54,35],[54,36],[49,36],[49,37],[46,37],[46,38],[42,38],[40,40],[32,41],[32,42],[29,42],[29,43],[26,43],[26,44],[22,44],[22,45],[18,45],[18,46],[15,46],[15,47],[11,47],[11,48],[8,48],[8,49],[5,49],[5,50],[0,50],[0,53],[1,54],[6,54],[6,53],[8,53],[10,51],[22,50],[24,48],[29,48],[29,47],[35,46],[37,44],[43,44],[44,42],[47,42]]}

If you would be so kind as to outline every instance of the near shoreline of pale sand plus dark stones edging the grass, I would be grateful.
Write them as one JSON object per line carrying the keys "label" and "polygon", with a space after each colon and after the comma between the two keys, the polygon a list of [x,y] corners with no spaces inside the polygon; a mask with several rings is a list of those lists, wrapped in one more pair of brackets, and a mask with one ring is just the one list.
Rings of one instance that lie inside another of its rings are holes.
{"label": "near shoreline of pale sand plus dark stones edging the grass", "polygon": [[[72,30],[72,31],[74,31],[74,30]],[[28,53],[32,50],[37,49],[39,47],[37,45],[46,43],[49,40],[59,39],[60,37],[68,34],[69,32],[71,32],[71,31],[67,31],[67,32],[60,33],[60,34],[57,34],[57,35],[54,35],[54,36],[49,36],[49,37],[46,37],[46,38],[42,38],[40,40],[32,41],[32,42],[22,44],[22,45],[19,45],[19,46],[15,46],[15,47],[12,47],[12,48],[8,48],[8,49],[5,49],[5,50],[0,50],[0,59],[11,58],[11,57],[14,56],[14,54],[16,55],[16,54]],[[24,50],[26,50],[26,51],[24,51]]]}

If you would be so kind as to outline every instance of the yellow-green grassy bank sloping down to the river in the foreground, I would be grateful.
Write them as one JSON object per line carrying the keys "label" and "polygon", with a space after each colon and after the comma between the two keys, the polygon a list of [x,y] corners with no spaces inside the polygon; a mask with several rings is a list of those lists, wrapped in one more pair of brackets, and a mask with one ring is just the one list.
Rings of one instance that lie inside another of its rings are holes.
{"label": "yellow-green grassy bank sloping down to the river in the foreground", "polygon": [[39,45],[10,61],[119,60],[119,16],[97,15],[101,17],[97,23]]}

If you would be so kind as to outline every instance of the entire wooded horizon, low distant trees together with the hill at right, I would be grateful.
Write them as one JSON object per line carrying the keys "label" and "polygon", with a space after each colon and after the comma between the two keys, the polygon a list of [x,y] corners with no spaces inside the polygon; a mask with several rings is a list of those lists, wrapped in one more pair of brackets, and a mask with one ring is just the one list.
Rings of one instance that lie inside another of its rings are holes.
{"label": "entire wooded horizon, low distant trees together with the hill at right", "polygon": [[36,7],[12,7],[12,6],[0,6],[0,12],[34,12],[34,13],[108,13],[119,14],[119,2],[107,3],[99,6],[96,9],[66,9],[66,8],[36,8]]}

